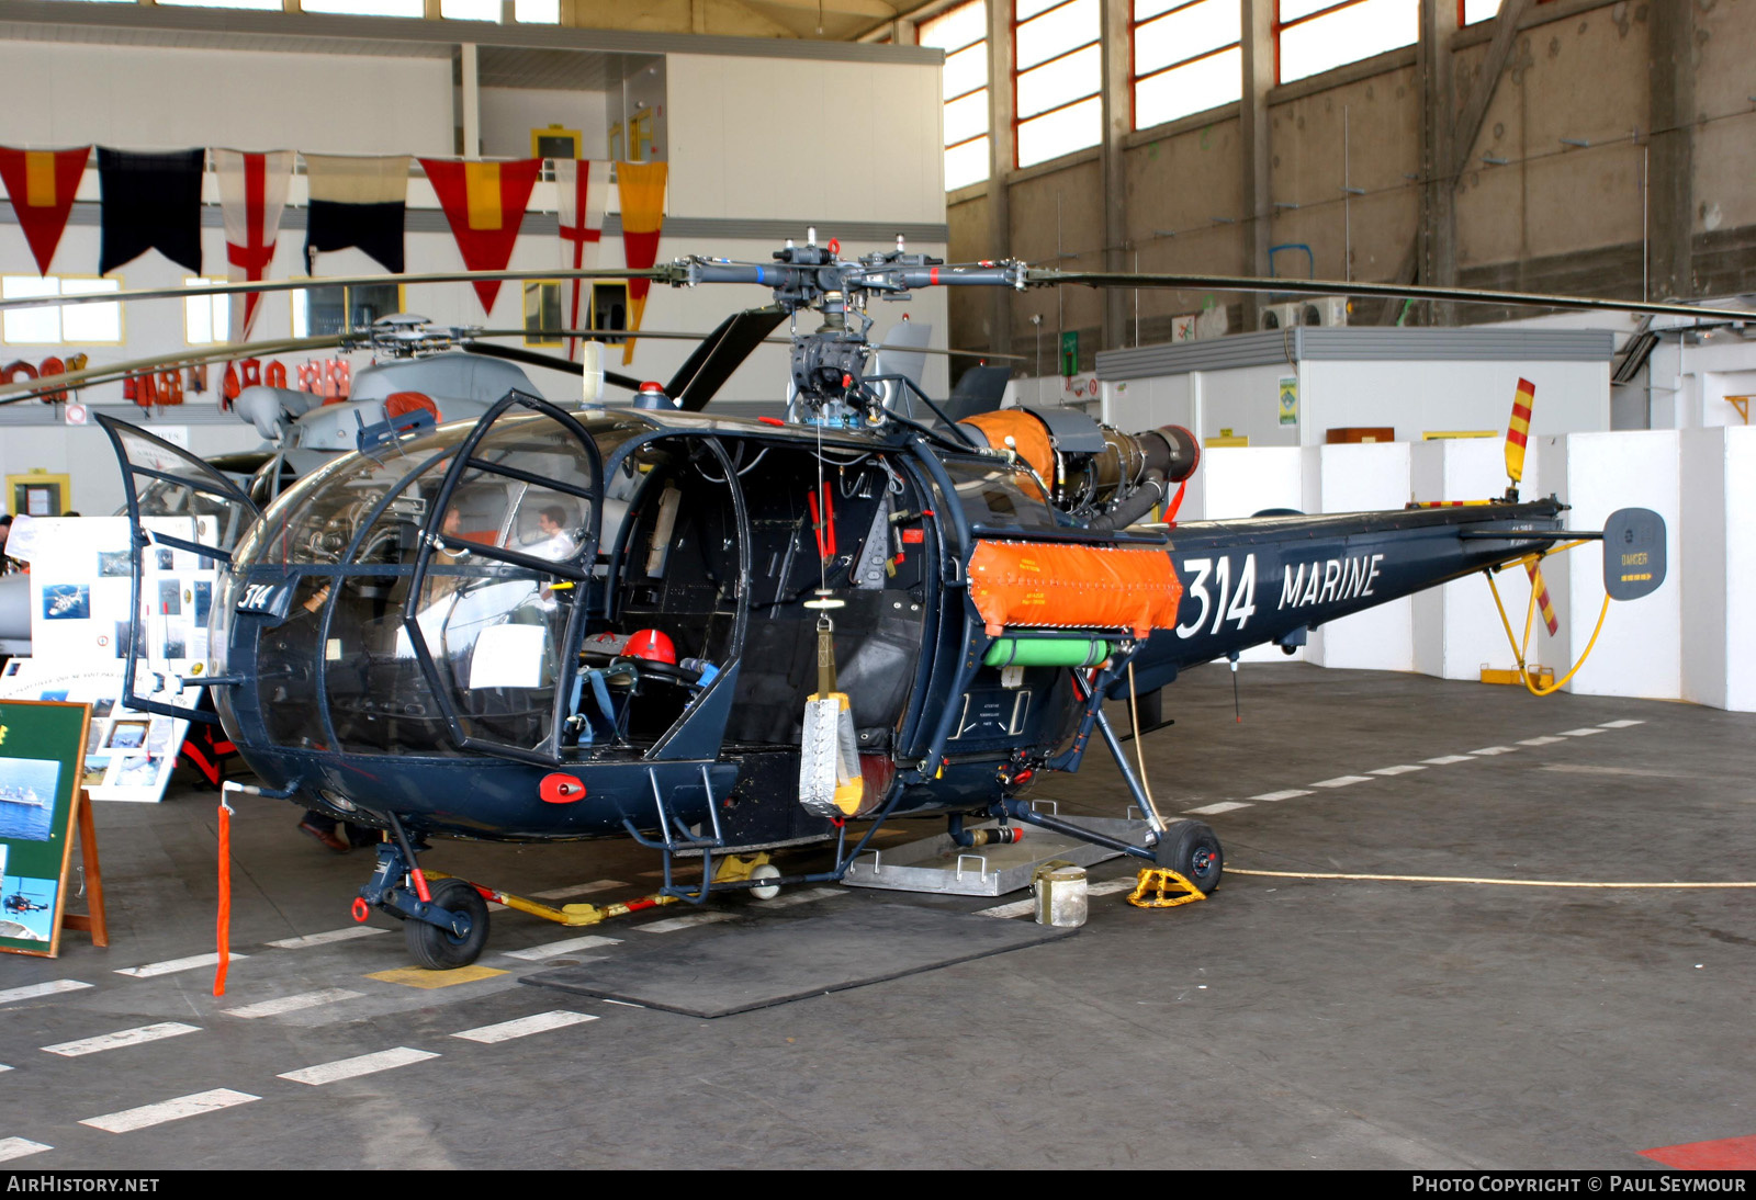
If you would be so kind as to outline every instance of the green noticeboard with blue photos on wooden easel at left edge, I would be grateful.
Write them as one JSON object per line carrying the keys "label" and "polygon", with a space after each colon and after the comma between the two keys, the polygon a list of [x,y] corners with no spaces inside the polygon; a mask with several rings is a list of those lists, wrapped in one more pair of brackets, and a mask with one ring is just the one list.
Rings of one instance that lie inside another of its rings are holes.
{"label": "green noticeboard with blue photos on wooden easel at left edge", "polygon": [[90,719],[83,704],[0,700],[0,951],[60,949]]}

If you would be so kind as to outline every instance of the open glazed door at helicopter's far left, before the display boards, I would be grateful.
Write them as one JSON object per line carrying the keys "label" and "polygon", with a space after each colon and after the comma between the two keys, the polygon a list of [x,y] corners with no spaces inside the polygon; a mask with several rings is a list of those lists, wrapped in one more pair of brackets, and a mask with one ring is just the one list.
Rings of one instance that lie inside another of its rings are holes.
{"label": "open glazed door at helicopter's far left, before the display boards", "polygon": [[[214,723],[218,718],[211,711],[149,696],[186,698],[190,688],[228,682],[212,674],[209,614],[202,612],[197,596],[205,584],[211,607],[218,581],[202,575],[232,565],[232,551],[262,511],[190,451],[107,414],[98,414],[97,421],[121,463],[128,525],[133,526],[123,704],[140,712]],[[142,660],[155,682],[148,695],[137,688]]]}

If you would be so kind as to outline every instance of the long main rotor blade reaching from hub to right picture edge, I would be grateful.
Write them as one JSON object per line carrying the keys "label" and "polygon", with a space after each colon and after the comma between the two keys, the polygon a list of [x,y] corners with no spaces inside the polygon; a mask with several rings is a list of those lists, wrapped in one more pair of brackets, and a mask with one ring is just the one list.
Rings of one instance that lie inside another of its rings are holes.
{"label": "long main rotor blade reaching from hub to right picture edge", "polygon": [[1603,312],[1651,312],[1656,316],[1756,321],[1749,309],[1712,309],[1702,304],[1651,304],[1603,300],[1540,291],[1494,291],[1487,288],[1429,288],[1424,284],[1359,282],[1342,279],[1264,279],[1261,275],[1173,275],[1159,272],[1031,268],[1024,281],[1034,288],[1082,284],[1087,288],[1178,288],[1185,291],[1284,291],[1299,296],[1384,296],[1443,300],[1452,304],[1507,304],[1524,309],[1579,309]]}

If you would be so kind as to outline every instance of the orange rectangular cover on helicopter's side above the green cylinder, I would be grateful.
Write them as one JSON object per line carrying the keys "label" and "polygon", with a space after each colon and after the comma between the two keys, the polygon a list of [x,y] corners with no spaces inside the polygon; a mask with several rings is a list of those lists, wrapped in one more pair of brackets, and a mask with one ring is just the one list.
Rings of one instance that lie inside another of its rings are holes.
{"label": "orange rectangular cover on helicopter's side above the green cylinder", "polygon": [[1124,628],[1147,637],[1177,626],[1184,586],[1162,549],[978,540],[969,598],[989,637],[1008,625]]}

